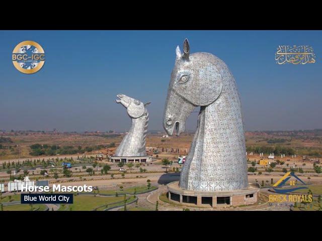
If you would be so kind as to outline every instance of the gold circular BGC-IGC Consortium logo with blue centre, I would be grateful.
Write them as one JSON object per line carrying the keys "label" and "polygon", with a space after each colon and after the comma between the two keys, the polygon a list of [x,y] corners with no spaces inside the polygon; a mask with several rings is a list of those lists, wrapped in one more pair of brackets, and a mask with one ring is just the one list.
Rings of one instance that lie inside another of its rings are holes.
{"label": "gold circular BGC-IGC Consortium logo with blue centre", "polygon": [[16,69],[25,74],[39,71],[45,63],[45,51],[34,41],[24,41],[12,52],[12,62]]}

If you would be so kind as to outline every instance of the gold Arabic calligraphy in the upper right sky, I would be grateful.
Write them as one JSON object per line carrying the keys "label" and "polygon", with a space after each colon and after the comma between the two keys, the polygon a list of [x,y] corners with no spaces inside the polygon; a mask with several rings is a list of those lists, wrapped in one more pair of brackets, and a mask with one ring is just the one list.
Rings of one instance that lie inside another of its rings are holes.
{"label": "gold Arabic calligraphy in the upper right sky", "polygon": [[308,45],[279,45],[275,53],[277,64],[312,64],[315,63],[313,48]]}

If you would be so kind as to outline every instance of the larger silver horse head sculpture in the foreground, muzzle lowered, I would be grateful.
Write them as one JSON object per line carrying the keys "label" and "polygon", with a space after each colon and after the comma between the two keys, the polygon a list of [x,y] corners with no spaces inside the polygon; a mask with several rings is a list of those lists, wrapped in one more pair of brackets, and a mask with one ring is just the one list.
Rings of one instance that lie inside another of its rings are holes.
{"label": "larger silver horse head sculpture in the foreground, muzzle lowered", "polygon": [[200,106],[197,131],[180,175],[180,187],[226,191],[248,187],[246,146],[235,80],[227,65],[210,53],[190,54],[189,42],[176,50],[163,126],[169,135],[185,131]]}

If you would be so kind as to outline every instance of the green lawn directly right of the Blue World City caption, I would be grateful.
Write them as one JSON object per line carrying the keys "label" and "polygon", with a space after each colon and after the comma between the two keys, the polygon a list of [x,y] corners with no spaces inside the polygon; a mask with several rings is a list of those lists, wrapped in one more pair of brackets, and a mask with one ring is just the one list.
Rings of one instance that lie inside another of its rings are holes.
{"label": "green lawn directly right of the Blue World City caption", "polygon": [[[122,202],[124,200],[124,196],[119,196],[119,197],[104,197],[104,196],[92,196],[92,195],[77,195],[74,196],[73,198],[73,204],[68,205],[68,207],[62,207],[60,208],[60,210],[71,210],[71,211],[91,211],[95,208],[98,208],[102,205],[108,205],[110,203],[114,203],[114,202]],[[129,196],[127,197],[127,202],[130,202],[132,200],[134,200],[133,196]],[[119,205],[119,203],[117,204],[112,204],[112,205],[108,205],[108,207],[113,207],[113,206],[117,206]],[[99,208],[98,210],[103,210],[105,209],[106,206]]]}

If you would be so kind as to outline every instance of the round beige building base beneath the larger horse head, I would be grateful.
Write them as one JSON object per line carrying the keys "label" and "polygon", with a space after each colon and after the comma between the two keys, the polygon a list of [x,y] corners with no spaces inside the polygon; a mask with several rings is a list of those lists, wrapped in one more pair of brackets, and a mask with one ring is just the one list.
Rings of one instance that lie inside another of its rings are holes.
{"label": "round beige building base beneath the larger horse head", "polygon": [[168,184],[170,201],[194,207],[250,205],[257,202],[258,191],[259,188],[251,183],[248,189],[216,192],[185,190],[179,187],[179,181]]}

